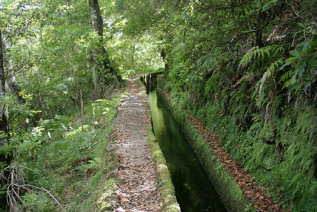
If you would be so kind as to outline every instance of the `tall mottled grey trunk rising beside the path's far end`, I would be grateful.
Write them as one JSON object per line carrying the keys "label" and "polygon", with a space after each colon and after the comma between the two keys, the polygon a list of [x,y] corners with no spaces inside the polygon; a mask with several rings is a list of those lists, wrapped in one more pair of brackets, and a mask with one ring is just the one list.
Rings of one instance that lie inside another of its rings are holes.
{"label": "tall mottled grey trunk rising beside the path's far end", "polygon": [[100,14],[100,8],[98,0],[89,0],[89,10],[91,17],[91,26],[93,30],[97,31],[99,38],[99,44],[94,48],[92,52],[92,66],[94,75],[94,88],[95,90],[100,90],[100,74],[99,67],[101,62],[98,60],[98,55],[103,56],[105,48],[102,45],[103,42],[103,19]]}

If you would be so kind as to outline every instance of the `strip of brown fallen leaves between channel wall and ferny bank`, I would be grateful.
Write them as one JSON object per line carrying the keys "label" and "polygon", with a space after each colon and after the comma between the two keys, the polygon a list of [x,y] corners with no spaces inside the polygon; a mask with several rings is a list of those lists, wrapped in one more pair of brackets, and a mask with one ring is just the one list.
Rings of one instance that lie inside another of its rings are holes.
{"label": "strip of brown fallen leaves between channel wall and ferny bank", "polygon": [[[171,99],[173,97],[170,93],[163,90]],[[231,158],[230,154],[223,149],[223,144],[219,144],[216,133],[208,133],[210,130],[204,126],[200,120],[193,117],[191,114],[187,114],[187,118],[191,124],[195,127],[197,132],[205,139],[205,142],[209,144],[213,154],[217,156],[217,161],[220,161],[226,170],[229,172],[232,179],[238,183],[243,193],[252,201],[252,206],[256,211],[261,212],[289,212],[282,209],[283,202],[274,202],[271,195],[267,194],[267,189],[261,187],[256,181],[249,175],[249,173],[241,168],[237,161]],[[209,134],[209,135],[208,135]],[[290,207],[291,208],[291,207]]]}

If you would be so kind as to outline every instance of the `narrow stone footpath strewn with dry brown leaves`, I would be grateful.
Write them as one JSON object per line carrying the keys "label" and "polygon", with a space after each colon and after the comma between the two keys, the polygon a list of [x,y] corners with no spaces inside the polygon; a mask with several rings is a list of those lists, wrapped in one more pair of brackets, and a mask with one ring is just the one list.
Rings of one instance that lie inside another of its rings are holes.
{"label": "narrow stone footpath strewn with dry brown leaves", "polygon": [[151,126],[148,113],[147,96],[141,92],[135,75],[128,79],[126,98],[118,107],[119,115],[114,121],[114,136],[117,140],[107,146],[115,151],[120,160],[120,167],[114,170],[126,184],[119,185],[118,199],[121,208],[115,211],[159,211],[158,182],[155,178],[155,167],[147,146],[145,126]]}

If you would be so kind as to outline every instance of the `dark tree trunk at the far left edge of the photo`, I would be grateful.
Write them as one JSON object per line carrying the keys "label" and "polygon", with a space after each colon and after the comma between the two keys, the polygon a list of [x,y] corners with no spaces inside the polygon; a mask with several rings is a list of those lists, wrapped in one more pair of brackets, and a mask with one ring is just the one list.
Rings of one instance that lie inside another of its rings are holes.
{"label": "dark tree trunk at the far left edge of the photo", "polygon": [[[2,41],[2,31],[0,30],[0,97],[5,95],[5,77],[4,77],[4,67],[3,67],[3,41]],[[9,136],[9,122],[8,122],[8,110],[3,104],[3,101],[0,100],[0,133],[4,133]],[[7,139],[9,139],[7,137]],[[3,138],[0,138],[0,146],[4,146],[6,141]],[[0,152],[0,164],[5,164],[4,167],[7,167],[12,161],[12,156],[7,155],[6,153]],[[1,170],[2,171],[2,170]],[[3,176],[0,178],[1,185],[8,183],[10,172],[8,169],[3,171]],[[0,207],[7,207],[7,195],[0,195]]]}

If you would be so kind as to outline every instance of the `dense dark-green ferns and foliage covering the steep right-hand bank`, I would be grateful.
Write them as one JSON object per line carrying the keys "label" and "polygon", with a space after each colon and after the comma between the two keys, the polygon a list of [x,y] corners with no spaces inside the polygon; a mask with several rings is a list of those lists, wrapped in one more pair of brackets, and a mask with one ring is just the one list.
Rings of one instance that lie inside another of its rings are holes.
{"label": "dense dark-green ferns and foliage covering the steep right-hand bank", "polygon": [[[315,1],[301,3],[305,13]],[[288,10],[275,0],[190,2],[175,17],[165,88],[275,199],[280,190],[294,211],[316,211],[317,42],[299,14],[275,18]]]}

